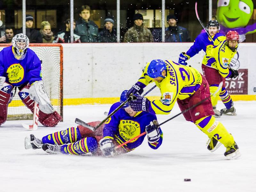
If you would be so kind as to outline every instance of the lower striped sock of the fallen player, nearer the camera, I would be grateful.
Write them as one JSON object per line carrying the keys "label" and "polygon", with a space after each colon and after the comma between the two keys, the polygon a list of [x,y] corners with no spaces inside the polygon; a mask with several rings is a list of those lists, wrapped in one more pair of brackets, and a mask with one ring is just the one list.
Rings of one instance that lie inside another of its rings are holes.
{"label": "lower striped sock of the fallen player, nearer the camera", "polygon": [[85,137],[75,143],[61,146],[60,151],[63,154],[83,155],[96,152],[97,148],[98,142],[94,137]]}

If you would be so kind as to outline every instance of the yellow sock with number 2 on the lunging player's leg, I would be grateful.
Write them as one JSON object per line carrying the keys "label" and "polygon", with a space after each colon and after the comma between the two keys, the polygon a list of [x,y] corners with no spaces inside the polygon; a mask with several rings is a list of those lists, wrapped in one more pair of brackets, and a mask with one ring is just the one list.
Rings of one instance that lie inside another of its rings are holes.
{"label": "yellow sock with number 2 on the lunging player's leg", "polygon": [[214,137],[225,147],[235,143],[233,136],[228,133],[224,125],[215,121],[214,116],[207,116],[196,121],[196,126],[204,132],[209,138]]}

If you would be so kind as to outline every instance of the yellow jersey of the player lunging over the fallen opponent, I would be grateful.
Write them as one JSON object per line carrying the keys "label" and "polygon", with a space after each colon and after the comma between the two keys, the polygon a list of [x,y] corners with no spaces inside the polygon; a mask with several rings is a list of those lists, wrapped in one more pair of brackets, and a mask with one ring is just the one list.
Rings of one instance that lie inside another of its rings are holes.
{"label": "yellow jersey of the player lunging over the fallen opponent", "polygon": [[202,84],[202,75],[195,68],[180,65],[171,60],[165,60],[167,75],[161,83],[154,81],[147,74],[147,63],[143,73],[139,79],[140,83],[148,85],[155,82],[160,88],[161,100],[153,100],[150,102],[151,108],[155,114],[169,114],[176,102],[177,98],[184,100],[194,94]]}

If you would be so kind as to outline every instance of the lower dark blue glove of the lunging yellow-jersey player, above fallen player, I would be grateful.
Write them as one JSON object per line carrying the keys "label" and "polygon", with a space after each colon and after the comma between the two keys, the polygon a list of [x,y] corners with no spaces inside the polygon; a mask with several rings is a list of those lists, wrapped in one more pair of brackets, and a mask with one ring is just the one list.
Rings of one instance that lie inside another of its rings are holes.
{"label": "lower dark blue glove of the lunging yellow-jersey player, above fallen player", "polygon": [[149,112],[150,101],[146,97],[135,94],[136,100],[130,100],[128,103],[134,111]]}

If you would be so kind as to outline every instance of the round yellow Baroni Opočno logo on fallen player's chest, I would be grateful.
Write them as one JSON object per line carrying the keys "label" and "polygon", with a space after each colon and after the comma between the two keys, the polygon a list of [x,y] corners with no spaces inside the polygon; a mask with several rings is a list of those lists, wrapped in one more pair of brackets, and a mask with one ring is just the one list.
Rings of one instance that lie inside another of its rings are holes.
{"label": "round yellow Baroni Opo\u010dno logo on fallen player's chest", "polygon": [[[125,140],[131,140],[140,134],[140,124],[137,121],[132,120],[120,120],[119,124],[119,134]],[[134,142],[137,139],[131,141]]]}

